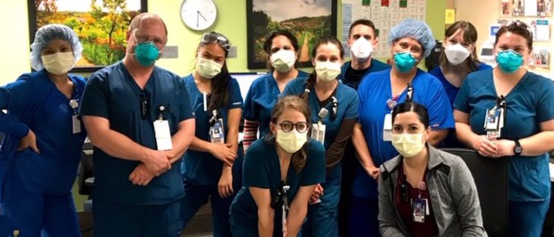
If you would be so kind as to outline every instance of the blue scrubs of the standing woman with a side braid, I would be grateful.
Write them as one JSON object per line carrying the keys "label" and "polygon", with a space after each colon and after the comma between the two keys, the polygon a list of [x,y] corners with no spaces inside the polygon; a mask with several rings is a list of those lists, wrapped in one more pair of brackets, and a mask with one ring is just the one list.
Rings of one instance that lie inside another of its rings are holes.
{"label": "blue scrubs of the standing woman with a side braid", "polygon": [[[307,78],[299,78],[291,81],[283,91],[285,95],[300,96],[306,88]],[[325,149],[329,149],[335,141],[342,121],[346,119],[357,119],[358,117],[358,95],[351,87],[342,83],[337,84],[335,97],[338,100],[338,110],[336,117],[331,117],[332,101],[324,106],[320,105],[315,90],[309,94],[308,104],[311,111],[311,123],[317,123],[319,117],[317,114],[322,107],[329,111],[322,123],[326,125],[325,130]],[[338,236],[338,202],[340,200],[341,174],[342,166],[340,164],[330,168],[325,176],[325,183],[321,183],[324,189],[324,195],[321,196],[321,203],[309,206],[307,222],[302,226],[302,235],[304,236]]]}

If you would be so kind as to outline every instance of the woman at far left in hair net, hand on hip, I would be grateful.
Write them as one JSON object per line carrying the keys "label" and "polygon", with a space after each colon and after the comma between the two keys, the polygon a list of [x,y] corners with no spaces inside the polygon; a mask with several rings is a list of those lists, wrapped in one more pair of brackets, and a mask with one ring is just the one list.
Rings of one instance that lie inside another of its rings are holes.
{"label": "woman at far left in hair net, hand on hip", "polygon": [[85,79],[68,74],[83,46],[66,25],[44,25],[33,73],[0,87],[0,215],[22,236],[80,236],[71,187],[86,137],[77,117]]}

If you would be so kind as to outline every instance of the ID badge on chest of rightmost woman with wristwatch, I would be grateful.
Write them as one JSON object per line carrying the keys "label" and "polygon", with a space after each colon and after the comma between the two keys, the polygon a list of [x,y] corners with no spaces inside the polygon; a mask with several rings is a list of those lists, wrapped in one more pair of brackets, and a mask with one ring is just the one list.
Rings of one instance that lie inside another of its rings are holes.
{"label": "ID badge on chest of rightmost woman with wristwatch", "polygon": [[484,128],[489,140],[500,138],[504,121],[506,120],[506,100],[504,96],[496,99],[494,107],[485,112]]}

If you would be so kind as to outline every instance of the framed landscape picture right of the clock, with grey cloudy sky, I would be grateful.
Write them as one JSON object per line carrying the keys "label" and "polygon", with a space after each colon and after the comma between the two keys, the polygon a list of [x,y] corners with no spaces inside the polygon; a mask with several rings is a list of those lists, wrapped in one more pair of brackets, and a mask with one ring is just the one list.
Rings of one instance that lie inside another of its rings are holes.
{"label": "framed landscape picture right of the clock, with grey cloudy sky", "polygon": [[265,37],[286,29],[296,36],[300,67],[311,65],[317,40],[337,32],[336,0],[247,0],[248,68],[266,68]]}

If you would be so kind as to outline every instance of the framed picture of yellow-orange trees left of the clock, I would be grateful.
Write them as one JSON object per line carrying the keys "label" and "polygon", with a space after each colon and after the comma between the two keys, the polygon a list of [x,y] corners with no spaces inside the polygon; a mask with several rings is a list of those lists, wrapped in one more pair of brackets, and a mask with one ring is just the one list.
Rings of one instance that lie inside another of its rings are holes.
{"label": "framed picture of yellow-orange trees left of the clock", "polygon": [[43,25],[64,24],[75,30],[83,55],[73,73],[91,73],[125,56],[131,19],[147,12],[147,0],[27,0],[29,38]]}

